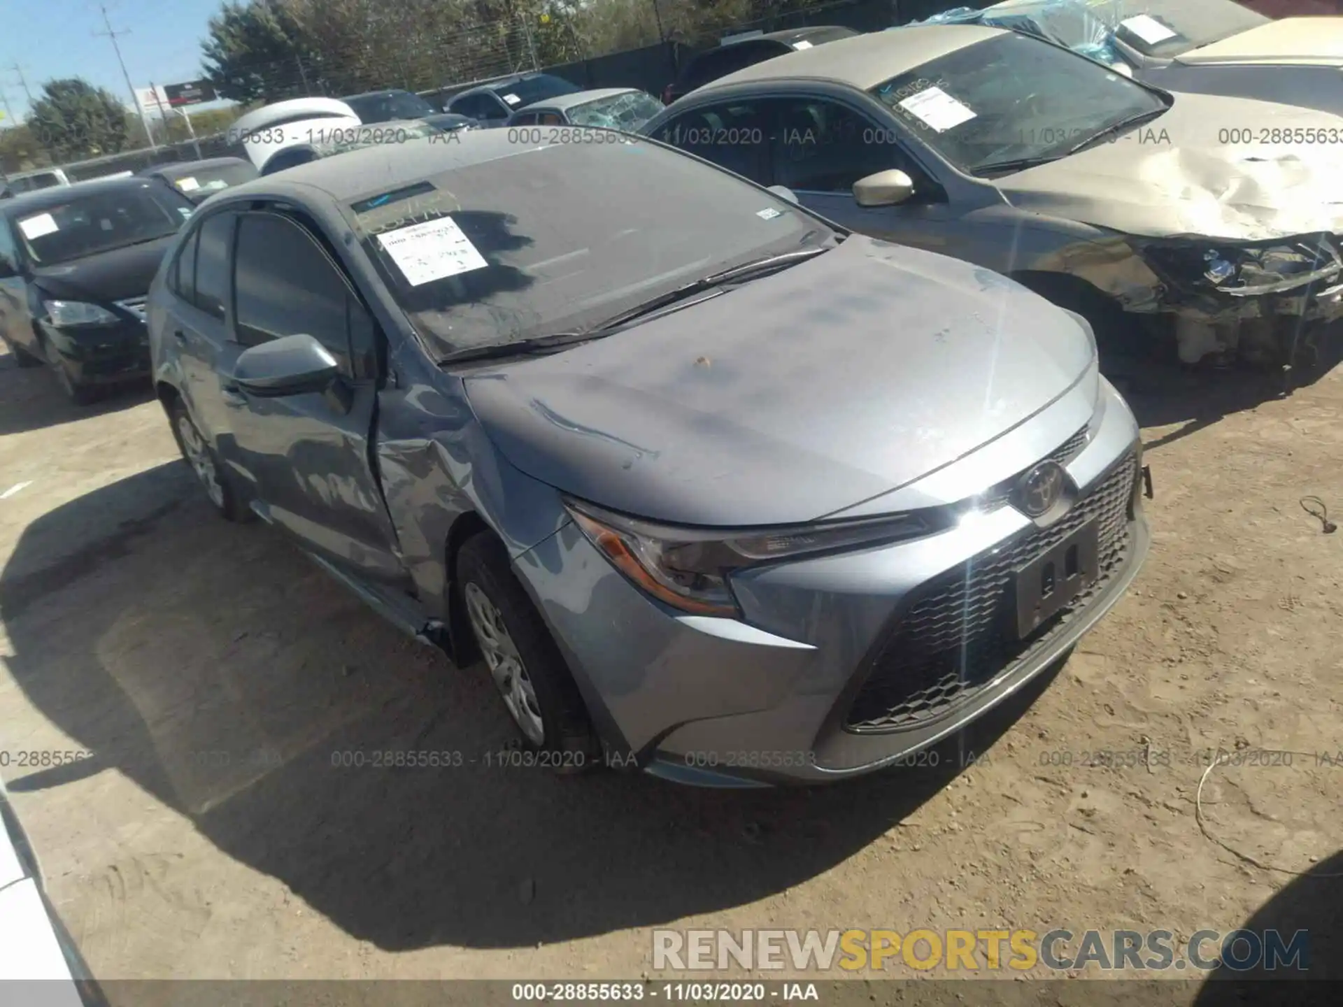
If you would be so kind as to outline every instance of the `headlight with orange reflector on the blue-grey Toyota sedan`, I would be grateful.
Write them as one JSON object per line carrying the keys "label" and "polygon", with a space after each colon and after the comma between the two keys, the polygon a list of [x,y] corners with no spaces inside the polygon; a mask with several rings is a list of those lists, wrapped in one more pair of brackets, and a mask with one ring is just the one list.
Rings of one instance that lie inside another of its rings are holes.
{"label": "headlight with orange reflector on the blue-grey Toyota sedan", "polygon": [[790,528],[676,528],[626,517],[576,499],[565,508],[587,540],[635,587],[694,615],[740,615],[728,576],[796,556],[882,545],[933,529],[920,514],[889,514]]}

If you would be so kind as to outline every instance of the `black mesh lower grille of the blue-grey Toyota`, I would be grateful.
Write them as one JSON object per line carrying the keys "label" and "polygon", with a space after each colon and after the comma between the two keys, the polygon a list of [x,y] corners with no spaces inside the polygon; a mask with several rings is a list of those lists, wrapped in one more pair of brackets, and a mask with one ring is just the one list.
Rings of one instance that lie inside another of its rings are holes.
{"label": "black mesh lower grille of the blue-grey Toyota", "polygon": [[[1129,452],[1062,520],[1033,528],[925,585],[873,661],[845,726],[916,728],[967,702],[1046,646],[1123,569],[1132,548],[1128,508],[1136,478],[1138,455]],[[1096,580],[1029,639],[1015,639],[1015,571],[1093,520],[1100,541]]]}

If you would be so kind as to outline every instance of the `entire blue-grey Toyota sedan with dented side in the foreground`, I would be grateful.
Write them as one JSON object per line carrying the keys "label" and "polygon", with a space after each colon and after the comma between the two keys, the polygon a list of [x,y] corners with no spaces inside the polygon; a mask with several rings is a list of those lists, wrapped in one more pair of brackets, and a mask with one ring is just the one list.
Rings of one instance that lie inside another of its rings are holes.
{"label": "entire blue-grey Toyota sedan with dented side in the foreground", "polygon": [[483,655],[537,765],[690,783],[889,765],[1120,597],[1142,444],[1084,320],[590,132],[200,209],[150,345],[224,517]]}

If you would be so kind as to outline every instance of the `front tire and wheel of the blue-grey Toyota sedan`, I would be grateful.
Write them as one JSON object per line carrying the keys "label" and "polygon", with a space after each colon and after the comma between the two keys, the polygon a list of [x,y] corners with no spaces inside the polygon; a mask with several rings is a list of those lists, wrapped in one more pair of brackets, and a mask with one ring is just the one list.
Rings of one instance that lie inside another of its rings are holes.
{"label": "front tire and wheel of the blue-grey Toyota sedan", "polygon": [[526,747],[553,756],[544,764],[557,772],[596,767],[602,749],[583,697],[493,533],[462,545],[457,584],[475,644]]}

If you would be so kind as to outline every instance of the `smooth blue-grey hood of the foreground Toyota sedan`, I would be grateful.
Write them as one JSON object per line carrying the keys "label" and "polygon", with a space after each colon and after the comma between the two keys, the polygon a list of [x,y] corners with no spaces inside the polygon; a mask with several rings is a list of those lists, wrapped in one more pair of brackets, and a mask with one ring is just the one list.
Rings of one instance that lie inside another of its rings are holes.
{"label": "smooth blue-grey hood of the foreground Toyota sedan", "polygon": [[811,521],[983,446],[1088,373],[1066,313],[858,235],[731,293],[466,377],[513,466],[685,525]]}

